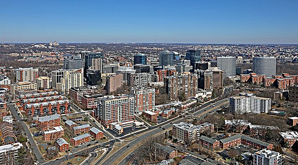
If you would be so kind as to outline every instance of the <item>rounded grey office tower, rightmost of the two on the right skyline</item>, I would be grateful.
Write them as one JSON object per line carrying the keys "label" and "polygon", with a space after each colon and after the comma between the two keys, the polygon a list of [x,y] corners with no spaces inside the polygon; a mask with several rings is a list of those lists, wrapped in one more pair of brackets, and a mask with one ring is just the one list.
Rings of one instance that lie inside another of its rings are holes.
{"label": "rounded grey office tower, rightmost of the two on the right skyline", "polygon": [[276,74],[276,57],[253,57],[253,72],[271,77]]}

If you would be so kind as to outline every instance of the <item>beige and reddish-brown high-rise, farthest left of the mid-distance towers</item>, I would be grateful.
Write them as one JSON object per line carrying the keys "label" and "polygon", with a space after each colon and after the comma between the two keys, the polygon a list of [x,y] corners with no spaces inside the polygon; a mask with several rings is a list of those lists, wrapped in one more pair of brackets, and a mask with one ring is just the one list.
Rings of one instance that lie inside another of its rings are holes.
{"label": "beige and reddish-brown high-rise, farthest left of the mid-distance towers", "polygon": [[38,69],[29,68],[18,68],[16,69],[16,82],[35,82],[38,77]]}

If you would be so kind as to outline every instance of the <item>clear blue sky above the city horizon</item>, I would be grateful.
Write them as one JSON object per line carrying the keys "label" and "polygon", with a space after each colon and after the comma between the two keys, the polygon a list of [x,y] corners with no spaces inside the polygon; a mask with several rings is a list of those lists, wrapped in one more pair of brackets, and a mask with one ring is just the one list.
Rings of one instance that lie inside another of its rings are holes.
{"label": "clear blue sky above the city horizon", "polygon": [[298,44],[298,0],[0,0],[2,42]]}

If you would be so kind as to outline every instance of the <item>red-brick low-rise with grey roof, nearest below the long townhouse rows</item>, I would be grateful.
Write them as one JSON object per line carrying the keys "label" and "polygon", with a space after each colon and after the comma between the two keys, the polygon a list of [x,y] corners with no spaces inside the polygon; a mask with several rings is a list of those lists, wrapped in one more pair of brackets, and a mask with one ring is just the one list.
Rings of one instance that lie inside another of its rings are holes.
{"label": "red-brick low-rise with grey roof, nearest below the long townhouse rows", "polygon": [[54,127],[60,126],[60,114],[39,117],[37,124],[41,131],[51,130]]}

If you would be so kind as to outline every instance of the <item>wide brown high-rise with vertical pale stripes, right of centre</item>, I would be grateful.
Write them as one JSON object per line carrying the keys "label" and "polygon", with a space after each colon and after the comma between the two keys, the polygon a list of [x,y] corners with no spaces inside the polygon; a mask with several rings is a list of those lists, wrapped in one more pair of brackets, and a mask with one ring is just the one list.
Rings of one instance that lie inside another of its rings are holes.
{"label": "wide brown high-rise with vertical pale stripes, right of centre", "polygon": [[165,93],[169,98],[194,97],[198,90],[197,74],[180,74],[177,76],[167,76],[164,78]]}

